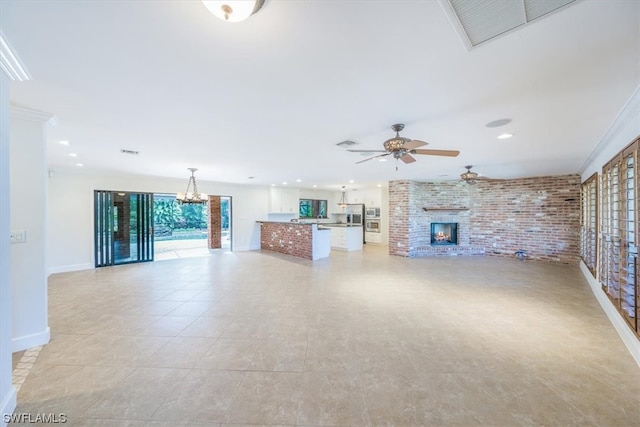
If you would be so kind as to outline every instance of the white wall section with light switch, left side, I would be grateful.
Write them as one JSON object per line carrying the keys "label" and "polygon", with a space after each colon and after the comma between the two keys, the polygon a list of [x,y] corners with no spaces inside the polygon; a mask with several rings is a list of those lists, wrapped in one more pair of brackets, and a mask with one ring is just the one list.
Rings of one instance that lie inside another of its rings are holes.
{"label": "white wall section with light switch, left side", "polygon": [[50,114],[11,109],[9,131],[11,232],[20,230],[21,243],[11,243],[13,299],[12,349],[25,350],[49,342],[47,311],[47,161],[45,123]]}

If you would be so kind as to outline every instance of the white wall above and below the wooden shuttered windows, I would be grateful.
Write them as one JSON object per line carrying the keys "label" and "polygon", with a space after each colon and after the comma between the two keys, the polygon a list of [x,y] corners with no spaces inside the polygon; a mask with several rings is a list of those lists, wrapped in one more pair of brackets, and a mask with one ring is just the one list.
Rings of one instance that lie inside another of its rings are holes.
{"label": "white wall above and below the wooden shuttered windows", "polygon": [[[594,172],[598,172],[599,176],[602,171],[602,166],[611,160],[613,156],[627,144],[638,138],[638,136],[640,136],[640,86],[632,94],[627,104],[623,107],[620,114],[618,114],[615,122],[611,124],[594,152],[585,162],[580,171],[582,180],[586,180],[593,175]],[[584,263],[581,263],[580,267],[596,299],[609,317],[609,320],[629,349],[631,355],[635,358],[638,365],[640,365],[640,341],[638,341],[633,332],[627,327],[609,298],[605,296],[598,280],[594,279]]]}

